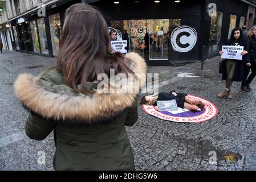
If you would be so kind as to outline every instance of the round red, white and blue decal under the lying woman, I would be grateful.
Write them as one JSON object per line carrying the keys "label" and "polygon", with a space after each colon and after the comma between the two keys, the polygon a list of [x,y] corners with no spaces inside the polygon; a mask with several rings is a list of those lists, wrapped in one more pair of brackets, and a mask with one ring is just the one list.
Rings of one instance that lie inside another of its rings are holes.
{"label": "round red, white and blue decal under the lying woman", "polygon": [[[208,100],[205,100],[200,97],[188,95],[190,98],[193,98],[195,100],[199,100],[202,102],[209,102]],[[143,105],[143,110],[150,114],[153,115],[157,118],[164,119],[167,121],[174,121],[174,122],[184,122],[184,123],[201,123],[204,121],[208,121],[209,119],[214,118],[218,114],[218,109],[217,107],[212,103],[209,102],[209,106],[204,106],[204,109],[202,111],[198,111],[196,113],[193,113],[192,111],[188,109],[181,109],[178,107],[178,111],[157,111],[155,109],[155,106],[147,106]]]}

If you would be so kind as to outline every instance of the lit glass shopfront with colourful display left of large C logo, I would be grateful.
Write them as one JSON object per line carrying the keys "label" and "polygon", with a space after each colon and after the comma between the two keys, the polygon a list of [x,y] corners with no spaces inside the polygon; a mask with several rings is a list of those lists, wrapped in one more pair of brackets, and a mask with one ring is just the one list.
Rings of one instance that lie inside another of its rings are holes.
{"label": "lit glass shopfront with colourful display left of large C logo", "polygon": [[122,32],[129,51],[144,59],[168,59],[169,19],[113,20],[111,27]]}

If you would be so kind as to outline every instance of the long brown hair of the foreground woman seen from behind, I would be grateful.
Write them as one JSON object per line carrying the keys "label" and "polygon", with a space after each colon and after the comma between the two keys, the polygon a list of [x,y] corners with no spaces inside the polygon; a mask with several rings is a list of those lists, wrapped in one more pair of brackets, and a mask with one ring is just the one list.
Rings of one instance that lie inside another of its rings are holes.
{"label": "long brown hair of the foreground woman seen from behind", "polygon": [[[66,84],[76,92],[95,93],[87,82],[95,81],[97,75],[115,69],[115,74],[133,73],[129,60],[119,52],[113,52],[107,23],[96,7],[77,3],[66,10],[62,30],[62,45],[56,56],[55,68],[64,75]],[[76,85],[81,84],[79,90]]]}

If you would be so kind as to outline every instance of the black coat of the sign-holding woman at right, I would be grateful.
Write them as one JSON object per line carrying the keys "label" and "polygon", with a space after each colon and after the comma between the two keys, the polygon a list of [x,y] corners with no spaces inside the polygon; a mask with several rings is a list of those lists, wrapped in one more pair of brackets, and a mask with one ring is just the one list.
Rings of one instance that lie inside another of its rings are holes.
{"label": "black coat of the sign-holding woman at right", "polygon": [[[238,43],[239,46],[243,46],[243,50],[247,51],[247,43],[246,40],[240,40],[239,42],[231,42],[230,40],[225,44],[225,46],[233,46],[234,43]],[[226,63],[227,60],[229,59],[225,59],[222,63],[222,80],[226,80],[227,77],[227,73],[226,73]],[[243,80],[243,69],[245,67],[246,63],[249,63],[249,56],[248,54],[243,55],[242,60],[235,60],[237,61],[237,64],[235,64],[235,72],[234,72],[234,76],[233,76],[233,81],[242,81]]]}

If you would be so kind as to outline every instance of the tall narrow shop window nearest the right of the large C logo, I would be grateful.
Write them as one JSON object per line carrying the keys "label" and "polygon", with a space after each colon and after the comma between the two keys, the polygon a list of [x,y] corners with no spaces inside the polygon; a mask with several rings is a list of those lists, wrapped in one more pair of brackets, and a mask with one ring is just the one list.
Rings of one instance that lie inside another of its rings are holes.
{"label": "tall narrow shop window nearest the right of the large C logo", "polygon": [[217,16],[212,16],[210,22],[209,52],[218,51],[221,41],[221,24],[223,13],[217,11]]}

